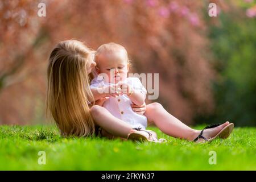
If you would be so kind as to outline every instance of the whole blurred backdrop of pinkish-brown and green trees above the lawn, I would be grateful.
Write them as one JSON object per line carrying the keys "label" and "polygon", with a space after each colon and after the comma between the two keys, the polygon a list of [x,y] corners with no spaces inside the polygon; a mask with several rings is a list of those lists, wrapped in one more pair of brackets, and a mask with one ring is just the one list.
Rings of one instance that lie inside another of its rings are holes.
{"label": "whole blurred backdrop of pinkish-brown and green trees above the lawn", "polygon": [[1,0],[0,124],[46,123],[49,53],[78,39],[93,49],[122,44],[131,72],[159,73],[159,98],[146,103],[189,125],[255,126],[255,31],[253,0]]}

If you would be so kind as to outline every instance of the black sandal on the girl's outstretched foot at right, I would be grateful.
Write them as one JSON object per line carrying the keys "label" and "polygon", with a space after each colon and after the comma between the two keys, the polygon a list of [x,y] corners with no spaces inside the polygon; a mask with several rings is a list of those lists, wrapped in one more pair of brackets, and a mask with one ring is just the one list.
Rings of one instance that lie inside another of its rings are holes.
{"label": "black sandal on the girl's outstretched foot at right", "polygon": [[220,126],[221,124],[220,123],[217,123],[217,124],[211,124],[211,125],[208,125],[207,127],[205,127],[201,133],[198,135],[198,137],[196,137],[193,142],[197,142],[197,140],[199,140],[200,138],[204,139],[205,141],[204,142],[210,142],[211,140],[217,138],[217,137],[220,137],[220,138],[228,138],[229,135],[232,133],[232,130],[234,128],[234,124],[233,123],[229,123],[229,125],[225,126],[217,135],[215,135],[213,138],[210,138],[210,139],[207,139],[205,137],[203,137],[203,131],[206,130],[206,129],[212,129],[214,127],[217,127],[217,126]]}

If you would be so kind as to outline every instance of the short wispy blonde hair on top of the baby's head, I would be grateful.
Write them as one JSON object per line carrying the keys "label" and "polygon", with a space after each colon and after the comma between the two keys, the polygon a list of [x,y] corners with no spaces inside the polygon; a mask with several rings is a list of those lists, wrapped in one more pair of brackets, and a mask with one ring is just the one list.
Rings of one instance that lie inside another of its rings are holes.
{"label": "short wispy blonde hair on top of the baby's head", "polygon": [[130,64],[130,60],[128,58],[128,53],[127,53],[125,47],[121,46],[120,44],[113,43],[113,42],[102,44],[97,49],[97,51],[95,53],[95,61],[96,61],[96,63],[98,63],[99,56],[103,53],[115,53],[115,52],[118,52],[118,51],[125,55],[127,64]]}

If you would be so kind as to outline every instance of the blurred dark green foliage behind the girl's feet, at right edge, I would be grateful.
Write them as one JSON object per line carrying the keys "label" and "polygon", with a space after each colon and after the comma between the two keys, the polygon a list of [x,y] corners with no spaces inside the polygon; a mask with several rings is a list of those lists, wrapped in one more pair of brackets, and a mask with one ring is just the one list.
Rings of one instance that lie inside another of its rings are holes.
{"label": "blurred dark green foliage behind the girl's feet, at right edge", "polygon": [[214,66],[220,77],[213,83],[216,109],[199,120],[255,126],[256,19],[236,15],[221,14],[220,26],[209,28]]}

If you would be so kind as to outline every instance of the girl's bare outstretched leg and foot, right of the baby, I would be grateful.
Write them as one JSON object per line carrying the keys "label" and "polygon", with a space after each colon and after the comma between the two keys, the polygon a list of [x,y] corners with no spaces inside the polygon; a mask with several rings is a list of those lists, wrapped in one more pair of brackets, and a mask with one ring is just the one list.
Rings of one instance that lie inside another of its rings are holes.
{"label": "girl's bare outstretched leg and foot, right of the baby", "polygon": [[[191,127],[188,127],[183,122],[179,121],[179,119],[168,113],[163,106],[157,102],[148,104],[144,115],[146,115],[148,123],[154,122],[163,133],[172,137],[193,140],[200,134],[200,130],[191,129]],[[228,124],[229,122],[225,122],[213,129],[204,130],[204,137],[207,139],[214,137],[214,135]]]}

